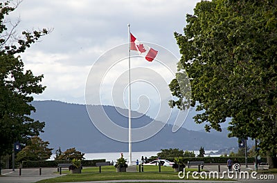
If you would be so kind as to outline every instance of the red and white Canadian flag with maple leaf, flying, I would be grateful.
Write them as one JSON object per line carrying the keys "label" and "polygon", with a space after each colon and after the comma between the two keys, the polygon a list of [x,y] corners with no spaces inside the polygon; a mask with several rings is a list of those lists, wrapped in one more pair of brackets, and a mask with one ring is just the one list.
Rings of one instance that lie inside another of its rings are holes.
{"label": "red and white Canadian flag with maple leaf, flying", "polygon": [[148,61],[154,60],[158,54],[158,51],[141,43],[136,37],[134,37],[134,35],[132,35],[132,33],[130,33],[130,42],[130,50],[136,50],[139,52],[139,55],[143,55]]}

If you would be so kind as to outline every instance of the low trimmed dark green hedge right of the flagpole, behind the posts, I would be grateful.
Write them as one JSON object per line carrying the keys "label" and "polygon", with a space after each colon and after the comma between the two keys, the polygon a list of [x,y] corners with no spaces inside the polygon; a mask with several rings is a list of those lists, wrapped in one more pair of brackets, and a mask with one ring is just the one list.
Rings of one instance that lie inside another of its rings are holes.
{"label": "low trimmed dark green hedge right of the flagpole, behind the posts", "polygon": [[[168,158],[160,158],[160,159],[166,159],[170,162],[174,162],[175,157],[168,157]],[[231,160],[235,160],[237,158],[238,162],[240,163],[245,163],[245,157],[231,157]],[[226,163],[229,157],[184,157],[184,162],[187,163],[189,162],[199,162],[199,161],[204,161],[205,164],[222,164]],[[149,158],[149,161],[151,162],[154,160],[153,157]],[[255,157],[247,157],[247,163],[251,164],[255,162]],[[267,162],[267,157],[261,157],[260,162]]]}

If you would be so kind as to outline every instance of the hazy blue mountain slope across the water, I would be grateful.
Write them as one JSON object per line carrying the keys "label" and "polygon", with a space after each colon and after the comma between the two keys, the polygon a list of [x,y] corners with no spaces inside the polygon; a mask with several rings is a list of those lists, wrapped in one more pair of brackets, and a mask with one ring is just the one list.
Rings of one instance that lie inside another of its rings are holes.
{"label": "hazy blue mountain slope across the water", "polygon": [[[50,142],[50,147],[62,151],[75,147],[84,153],[123,152],[128,150],[128,144],[116,142],[102,135],[91,123],[86,106],[80,104],[67,104],[57,101],[35,101],[32,105],[36,113],[31,116],[46,122],[42,139]],[[101,106],[92,106],[96,110]],[[127,127],[127,117],[117,112],[114,106],[103,106],[109,117],[120,126]],[[123,113],[127,110],[120,109]],[[133,112],[136,113],[136,112]],[[150,117],[142,115],[132,120],[133,128],[145,126],[152,121]],[[161,148],[180,148],[184,150],[217,150],[237,146],[237,139],[222,137],[212,133],[188,131],[180,128],[172,133],[172,126],[167,124],[157,135],[143,142],[136,142],[133,151],[160,151]]]}

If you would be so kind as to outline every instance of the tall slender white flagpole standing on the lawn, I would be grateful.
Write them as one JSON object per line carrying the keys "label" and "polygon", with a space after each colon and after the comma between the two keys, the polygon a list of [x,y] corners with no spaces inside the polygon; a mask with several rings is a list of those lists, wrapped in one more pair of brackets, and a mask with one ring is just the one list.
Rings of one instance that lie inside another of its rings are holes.
{"label": "tall slender white flagpole standing on the lawn", "polygon": [[132,165],[132,121],[131,121],[131,61],[130,61],[130,24],[128,24],[128,57],[129,57],[129,166]]}

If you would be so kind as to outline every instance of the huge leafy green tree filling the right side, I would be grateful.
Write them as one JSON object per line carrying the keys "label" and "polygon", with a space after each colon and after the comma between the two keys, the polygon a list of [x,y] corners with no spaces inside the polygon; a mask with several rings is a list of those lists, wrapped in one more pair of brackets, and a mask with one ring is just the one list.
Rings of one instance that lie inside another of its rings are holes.
{"label": "huge leafy green tree filling the right side", "polygon": [[[194,119],[206,131],[221,131],[231,117],[229,137],[259,139],[269,167],[277,167],[277,3],[276,1],[201,1],[187,15],[184,35],[175,32],[179,70],[190,79]],[[180,108],[184,95],[170,83]]]}

